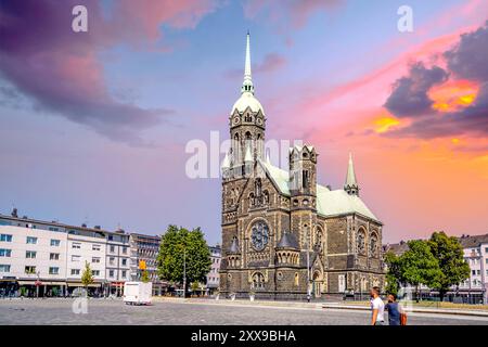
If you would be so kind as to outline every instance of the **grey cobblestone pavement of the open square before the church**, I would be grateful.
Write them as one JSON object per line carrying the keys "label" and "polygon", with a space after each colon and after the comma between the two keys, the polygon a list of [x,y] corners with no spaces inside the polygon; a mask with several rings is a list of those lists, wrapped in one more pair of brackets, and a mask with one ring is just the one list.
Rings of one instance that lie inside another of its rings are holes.
{"label": "grey cobblestone pavement of the open square before the church", "polygon": [[[365,311],[316,307],[234,305],[231,301],[155,301],[152,306],[124,305],[119,299],[89,299],[87,313],[74,313],[74,299],[1,299],[0,324],[368,324]],[[284,304],[285,305],[285,304]],[[76,306],[82,311],[82,306]],[[488,319],[411,313],[409,324],[485,324]]]}

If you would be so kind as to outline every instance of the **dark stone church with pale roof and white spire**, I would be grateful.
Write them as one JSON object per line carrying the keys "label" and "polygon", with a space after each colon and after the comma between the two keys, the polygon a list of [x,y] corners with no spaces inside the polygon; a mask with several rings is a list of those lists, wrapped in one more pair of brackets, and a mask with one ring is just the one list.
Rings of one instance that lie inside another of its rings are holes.
{"label": "dark stone church with pale roof and white spire", "polygon": [[359,196],[349,155],[343,188],[317,182],[312,145],[290,149],[288,170],[264,151],[267,115],[255,97],[246,37],[241,97],[222,163],[220,293],[304,299],[384,286],[382,222]]}

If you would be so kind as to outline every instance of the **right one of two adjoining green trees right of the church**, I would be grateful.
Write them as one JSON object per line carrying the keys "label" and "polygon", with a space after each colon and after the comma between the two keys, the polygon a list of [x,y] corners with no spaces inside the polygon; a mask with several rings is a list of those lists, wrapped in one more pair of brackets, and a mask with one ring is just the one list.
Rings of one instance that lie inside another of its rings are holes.
{"label": "right one of two adjoining green trees right of the church", "polygon": [[458,239],[449,237],[444,231],[433,233],[428,245],[440,269],[438,278],[431,287],[439,291],[442,301],[452,285],[470,277],[470,266],[464,260],[463,248]]}

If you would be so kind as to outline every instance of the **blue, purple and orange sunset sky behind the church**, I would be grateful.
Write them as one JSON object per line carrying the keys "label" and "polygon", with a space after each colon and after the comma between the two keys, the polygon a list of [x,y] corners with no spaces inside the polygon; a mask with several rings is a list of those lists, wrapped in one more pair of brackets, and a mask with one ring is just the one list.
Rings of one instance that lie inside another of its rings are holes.
{"label": "blue, purple and orange sunset sky behind the church", "polygon": [[[87,33],[72,29],[77,4]],[[313,144],[333,189],[351,152],[384,243],[487,233],[487,13],[486,0],[3,0],[0,213],[220,242],[220,179],[189,178],[185,145],[228,138],[249,30],[267,139]]]}

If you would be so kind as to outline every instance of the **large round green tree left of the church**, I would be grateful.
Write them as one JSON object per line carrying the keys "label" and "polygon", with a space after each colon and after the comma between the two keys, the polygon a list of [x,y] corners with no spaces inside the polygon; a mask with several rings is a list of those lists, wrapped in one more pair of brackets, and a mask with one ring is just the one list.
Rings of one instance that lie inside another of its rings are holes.
{"label": "large round green tree left of the church", "polygon": [[185,268],[187,286],[192,282],[206,283],[210,264],[210,250],[200,228],[189,231],[176,226],[168,227],[162,236],[157,256],[157,271],[160,279],[183,283]]}

